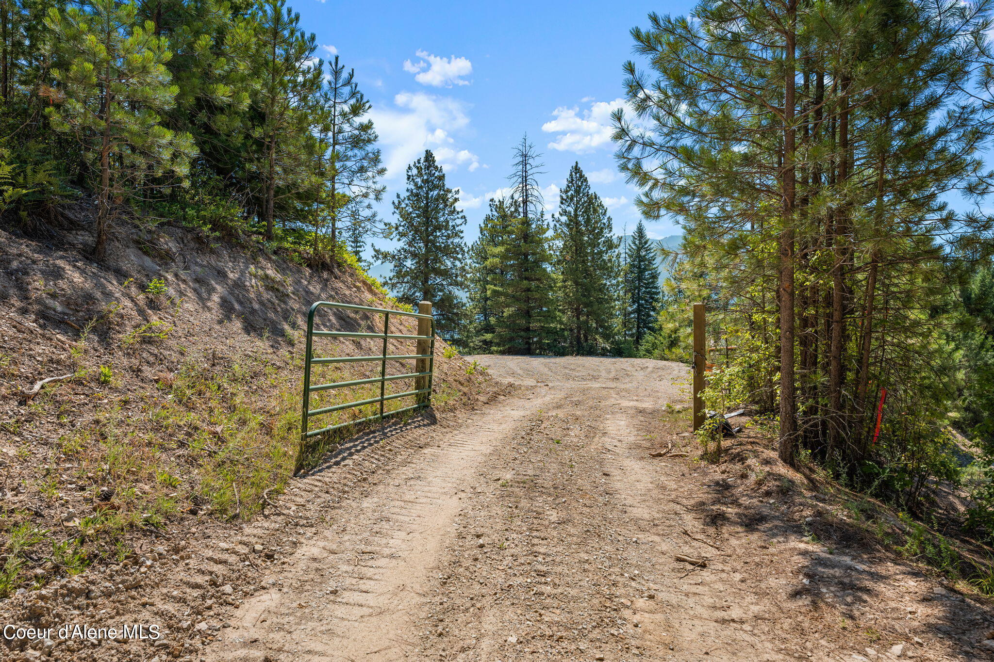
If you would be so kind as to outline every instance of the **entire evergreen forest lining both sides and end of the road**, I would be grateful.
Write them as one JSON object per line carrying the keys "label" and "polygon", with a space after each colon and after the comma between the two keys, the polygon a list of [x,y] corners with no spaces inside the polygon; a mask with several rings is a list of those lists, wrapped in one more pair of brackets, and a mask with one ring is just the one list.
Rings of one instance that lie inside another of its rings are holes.
{"label": "entire evergreen forest lining both sides and end of the road", "polygon": [[622,244],[579,163],[547,207],[527,136],[472,243],[430,150],[381,217],[371,103],[283,0],[0,0],[0,219],[57,240],[82,208],[95,260],[159,223],[330,274],[372,252],[469,353],[689,361],[704,302],[730,348],[709,408],[916,514],[962,483],[990,536],[992,1],[650,15],[613,141],[643,217],[682,227],[661,252],[643,222]]}

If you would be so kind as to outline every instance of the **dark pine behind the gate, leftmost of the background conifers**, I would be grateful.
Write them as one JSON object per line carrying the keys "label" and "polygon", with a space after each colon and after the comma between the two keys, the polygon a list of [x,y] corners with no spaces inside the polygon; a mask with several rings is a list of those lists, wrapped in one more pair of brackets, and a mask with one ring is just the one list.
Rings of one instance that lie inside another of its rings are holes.
{"label": "dark pine behind the gate, leftmost of the background conifers", "polygon": [[450,338],[461,316],[466,217],[456,206],[458,192],[445,186],[445,173],[430,150],[408,166],[407,185],[404,196],[394,200],[396,220],[387,223],[399,246],[377,250],[377,259],[393,265],[385,285],[398,300],[412,306],[430,301],[436,331]]}

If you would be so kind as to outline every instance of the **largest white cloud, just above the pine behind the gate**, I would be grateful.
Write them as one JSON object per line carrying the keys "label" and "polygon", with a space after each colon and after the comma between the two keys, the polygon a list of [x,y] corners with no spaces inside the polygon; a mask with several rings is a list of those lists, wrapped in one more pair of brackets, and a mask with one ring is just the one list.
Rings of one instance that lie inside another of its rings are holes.
{"label": "largest white cloud, just above the pine behind the gate", "polygon": [[451,169],[479,168],[478,157],[455,147],[450,135],[469,125],[465,104],[446,96],[401,92],[394,97],[394,105],[392,108],[374,105],[370,110],[384,147],[386,179],[403,176],[408,165],[425,149],[432,150],[438,161]]}

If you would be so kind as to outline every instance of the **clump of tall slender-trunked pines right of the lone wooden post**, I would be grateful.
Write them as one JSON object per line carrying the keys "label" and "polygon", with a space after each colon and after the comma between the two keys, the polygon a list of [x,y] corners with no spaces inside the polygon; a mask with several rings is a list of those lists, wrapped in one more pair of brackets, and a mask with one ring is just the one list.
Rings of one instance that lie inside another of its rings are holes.
{"label": "clump of tall slender-trunked pines right of the lone wooden post", "polygon": [[[632,31],[645,123],[616,113],[621,168],[647,217],[681,219],[686,289],[736,333],[728,385],[778,415],[784,462],[806,448],[862,481],[902,458],[912,491],[942,474],[911,458],[948,412],[946,256],[991,231],[944,201],[991,191],[991,8],[718,0]],[[915,418],[874,441],[883,388]]]}

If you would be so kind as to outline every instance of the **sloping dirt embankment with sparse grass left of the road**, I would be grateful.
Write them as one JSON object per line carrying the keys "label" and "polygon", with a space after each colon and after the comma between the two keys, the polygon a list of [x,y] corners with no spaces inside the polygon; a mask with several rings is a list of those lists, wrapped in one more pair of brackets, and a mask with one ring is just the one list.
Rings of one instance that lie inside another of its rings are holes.
{"label": "sloping dirt embankment with sparse grass left of the road", "polygon": [[[138,575],[101,580],[93,592],[94,577],[137,572],[150,556],[179,558],[191,541],[231,535],[268,507],[297,459],[308,306],[395,307],[352,269],[315,271],[250,247],[206,245],[181,228],[122,236],[101,264],[87,257],[89,242],[85,232],[54,246],[0,230],[4,622],[32,613],[28,620],[52,620],[56,603],[77,589],[83,601],[74,608],[91,617],[87,594],[140,593]],[[382,318],[324,311],[321,325],[380,331]],[[414,321],[395,318],[391,331],[414,332]],[[380,348],[322,339],[315,352]],[[390,348],[414,353],[409,341]],[[413,372],[410,363],[388,369]],[[379,367],[343,364],[315,379],[355,379]],[[441,341],[435,368],[437,412],[490,397],[485,377]],[[49,377],[61,379],[31,393]],[[388,392],[410,388],[397,381]],[[322,394],[315,406],[369,397],[366,390]],[[77,589],[60,589],[67,582]],[[27,606],[39,595],[45,609]]]}

